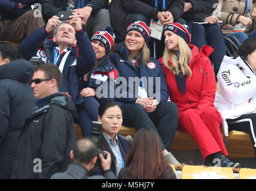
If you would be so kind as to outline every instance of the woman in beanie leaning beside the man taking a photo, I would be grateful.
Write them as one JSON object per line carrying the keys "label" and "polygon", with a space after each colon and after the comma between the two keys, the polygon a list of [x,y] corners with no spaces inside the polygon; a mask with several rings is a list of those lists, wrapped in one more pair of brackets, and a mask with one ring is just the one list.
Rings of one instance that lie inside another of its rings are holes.
{"label": "woman in beanie leaning beside the man taking a photo", "polygon": [[97,121],[99,104],[105,100],[114,100],[114,79],[118,77],[118,72],[107,56],[114,40],[114,32],[110,26],[105,30],[98,30],[91,39],[96,54],[96,63],[84,75],[83,90],[80,91],[83,103],[78,106],[83,137],[90,135],[92,121]]}

